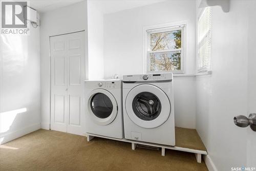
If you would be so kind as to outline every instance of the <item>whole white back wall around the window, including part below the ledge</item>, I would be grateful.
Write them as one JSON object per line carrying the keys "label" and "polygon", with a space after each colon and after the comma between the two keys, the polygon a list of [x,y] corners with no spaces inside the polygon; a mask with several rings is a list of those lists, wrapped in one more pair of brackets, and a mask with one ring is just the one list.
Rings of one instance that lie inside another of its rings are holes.
{"label": "whole white back wall around the window, including part below the ledge", "polygon": [[[195,1],[165,1],[104,15],[104,74],[142,74],[142,29],[164,23],[186,21],[185,74],[195,73]],[[195,128],[195,79],[175,77],[176,126]]]}

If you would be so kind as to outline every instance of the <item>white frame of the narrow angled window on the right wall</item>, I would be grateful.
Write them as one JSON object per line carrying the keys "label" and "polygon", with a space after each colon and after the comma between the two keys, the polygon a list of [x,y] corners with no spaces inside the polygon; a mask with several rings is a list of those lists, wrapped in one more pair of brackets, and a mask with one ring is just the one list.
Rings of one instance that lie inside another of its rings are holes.
{"label": "white frame of the narrow angled window on the right wall", "polygon": [[199,50],[200,50],[200,48],[199,48],[199,45],[200,45],[200,42],[202,41],[202,40],[200,40],[200,30],[199,30],[199,25],[200,25],[200,23],[199,23],[199,20],[200,20],[200,18],[202,17],[202,15],[203,15],[203,13],[204,13],[204,10],[205,10],[205,8],[203,8],[202,10],[201,10],[201,12],[200,12],[200,15],[198,16],[198,24],[197,24],[197,27],[198,27],[198,31],[197,31],[197,60],[196,60],[196,63],[197,63],[197,66],[196,66],[196,72],[197,72],[197,75],[198,74],[211,74],[211,61],[212,61],[212,58],[211,58],[211,54],[212,54],[212,8],[211,7],[206,7],[206,8],[210,8],[211,9],[211,45],[210,45],[210,59],[209,59],[209,66],[207,67],[207,68],[200,68],[199,67]]}

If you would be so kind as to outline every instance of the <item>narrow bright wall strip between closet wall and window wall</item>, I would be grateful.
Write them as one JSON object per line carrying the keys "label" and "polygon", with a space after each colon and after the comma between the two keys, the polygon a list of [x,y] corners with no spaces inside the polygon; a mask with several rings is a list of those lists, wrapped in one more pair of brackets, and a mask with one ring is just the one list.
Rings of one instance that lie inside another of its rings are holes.
{"label": "narrow bright wall strip between closet wall and window wall", "polygon": [[88,1],[88,79],[104,78],[103,39],[103,13],[94,1]]}

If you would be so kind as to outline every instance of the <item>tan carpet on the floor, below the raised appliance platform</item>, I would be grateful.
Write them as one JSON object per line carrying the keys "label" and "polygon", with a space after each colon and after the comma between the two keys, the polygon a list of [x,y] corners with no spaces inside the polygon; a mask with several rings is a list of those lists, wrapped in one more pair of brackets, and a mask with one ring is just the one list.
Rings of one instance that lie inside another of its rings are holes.
{"label": "tan carpet on the floor, below the raised appliance platform", "polygon": [[191,153],[38,130],[0,146],[0,170],[207,170]]}

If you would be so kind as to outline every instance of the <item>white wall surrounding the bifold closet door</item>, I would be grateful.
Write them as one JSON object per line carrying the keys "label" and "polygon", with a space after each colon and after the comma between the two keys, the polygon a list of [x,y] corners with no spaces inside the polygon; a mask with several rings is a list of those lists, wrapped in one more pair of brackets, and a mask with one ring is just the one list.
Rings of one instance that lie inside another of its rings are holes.
{"label": "white wall surrounding the bifold closet door", "polygon": [[[59,8],[40,15],[41,64],[41,127],[50,124],[50,45],[49,36],[86,30],[86,59],[88,59],[87,2]],[[86,61],[88,63],[88,61]],[[88,69],[88,67],[86,67]],[[88,77],[88,70],[86,72]]]}

